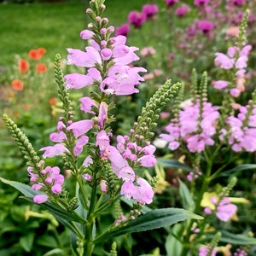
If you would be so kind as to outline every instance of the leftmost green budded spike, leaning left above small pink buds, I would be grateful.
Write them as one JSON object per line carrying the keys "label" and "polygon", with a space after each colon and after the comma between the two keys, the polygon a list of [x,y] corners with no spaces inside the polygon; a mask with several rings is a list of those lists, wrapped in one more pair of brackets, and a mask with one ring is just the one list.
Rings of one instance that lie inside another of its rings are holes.
{"label": "leftmost green budded spike, leaning left above small pink buds", "polygon": [[7,114],[3,114],[3,121],[14,137],[15,143],[17,143],[21,153],[24,155],[27,166],[37,168],[40,158],[26,135],[20,130],[20,128],[18,128],[15,122],[10,119]]}

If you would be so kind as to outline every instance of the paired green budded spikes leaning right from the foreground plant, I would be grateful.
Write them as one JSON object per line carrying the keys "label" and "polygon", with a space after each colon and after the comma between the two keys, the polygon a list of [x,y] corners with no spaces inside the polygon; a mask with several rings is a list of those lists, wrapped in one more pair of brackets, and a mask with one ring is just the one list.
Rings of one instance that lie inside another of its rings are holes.
{"label": "paired green budded spikes leaning right from the foreground plant", "polygon": [[131,142],[137,140],[137,145],[141,145],[142,143],[139,143],[139,137],[143,138],[143,142],[145,142],[148,138],[154,136],[153,129],[157,125],[156,121],[159,119],[161,109],[177,95],[180,86],[180,83],[171,86],[171,80],[167,80],[166,83],[154,93],[154,96],[152,96],[146,103],[146,106],[143,107],[141,116],[137,119],[134,132],[131,134]]}

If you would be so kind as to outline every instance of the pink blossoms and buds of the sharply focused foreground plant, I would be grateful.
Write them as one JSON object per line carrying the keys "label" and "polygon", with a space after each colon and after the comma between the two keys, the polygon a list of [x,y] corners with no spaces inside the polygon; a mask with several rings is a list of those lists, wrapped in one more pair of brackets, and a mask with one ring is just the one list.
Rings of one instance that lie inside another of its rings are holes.
{"label": "pink blossoms and buds of the sharply focused foreground plant", "polygon": [[[105,7],[102,4],[100,8],[103,10]],[[80,109],[86,113],[86,116],[89,115],[90,119],[73,121],[72,112],[67,110],[66,117],[61,116],[59,119],[57,131],[49,135],[49,139],[55,145],[40,150],[44,151],[43,158],[62,155],[68,157],[71,162],[83,158],[81,167],[73,170],[76,167],[72,166],[72,172],[89,183],[95,182],[94,179],[97,178],[103,193],[108,192],[108,181],[105,180],[108,177],[105,177],[105,174],[101,176],[100,170],[93,166],[99,165],[99,162],[103,162],[104,165],[109,163],[112,172],[120,180],[120,194],[125,195],[127,199],[132,198],[139,204],[149,204],[153,201],[154,191],[143,177],[136,175],[134,169],[139,166],[154,166],[155,148],[147,141],[143,142],[144,145],[137,144],[137,140],[140,142],[143,140],[139,134],[134,135],[134,141],[129,136],[118,136],[117,147],[111,145],[113,134],[109,124],[112,119],[109,117],[108,104],[111,95],[124,96],[137,93],[138,89],[135,86],[143,81],[139,73],[146,72],[146,69],[131,66],[132,61],[139,59],[135,54],[137,48],[127,46],[125,36],[111,37],[114,28],[108,26],[107,18],[96,16],[93,9],[87,9],[86,13],[96,24],[96,26],[89,24],[88,29],[80,32],[80,37],[88,40],[89,46],[86,46],[84,51],[67,49],[67,64],[85,67],[86,73],[65,75],[64,90],[67,92],[67,90],[93,86],[92,89],[101,96],[80,98]],[[131,134],[133,133],[134,130],[131,130]],[[48,176],[44,183],[48,183],[49,178],[52,178],[51,193],[61,193],[62,183],[59,181],[59,176],[54,176],[55,172],[54,174],[46,172],[46,174]],[[55,189],[56,186],[58,189]],[[38,183],[32,188],[44,189],[44,185]],[[35,200],[38,203],[48,199],[47,195],[43,199],[38,197]]]}

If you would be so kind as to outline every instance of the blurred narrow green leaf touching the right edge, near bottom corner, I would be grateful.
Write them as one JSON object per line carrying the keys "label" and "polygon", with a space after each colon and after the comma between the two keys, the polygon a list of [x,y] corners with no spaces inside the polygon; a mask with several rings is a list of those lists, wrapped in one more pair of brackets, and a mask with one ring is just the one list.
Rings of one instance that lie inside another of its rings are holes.
{"label": "blurred narrow green leaf touching the right edge, near bottom corner", "polygon": [[228,242],[236,245],[256,245],[256,238],[245,236],[243,234],[232,234],[222,230],[219,241]]}

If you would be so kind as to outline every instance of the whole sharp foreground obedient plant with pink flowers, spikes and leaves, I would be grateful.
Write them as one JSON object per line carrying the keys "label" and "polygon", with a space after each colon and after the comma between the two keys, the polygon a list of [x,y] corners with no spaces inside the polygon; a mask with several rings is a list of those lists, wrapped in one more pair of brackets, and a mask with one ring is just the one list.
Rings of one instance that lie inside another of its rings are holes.
{"label": "whole sharp foreground obedient plant with pink flowers, spikes and leaves", "polygon": [[[124,36],[112,36],[114,27],[108,26],[108,19],[102,16],[103,3],[92,0],[86,10],[91,23],[80,37],[88,46],[84,50],[67,49],[67,64],[84,67],[84,73],[63,76],[61,56],[56,55],[55,81],[63,111],[56,131],[49,135],[51,144],[36,152],[24,133],[3,114],[3,121],[24,155],[32,186],[1,180],[19,189],[27,200],[47,209],[71,230],[73,255],[91,255],[96,244],[114,236],[200,218],[183,209],[145,207],[154,198],[154,180],[143,177],[143,169],[156,163],[150,139],[161,109],[177,94],[180,84],[171,86],[171,81],[166,81],[148,100],[130,134],[113,133],[113,96],[138,93],[143,81],[140,73],[146,70],[132,66],[138,60],[137,47],[127,46]],[[84,93],[87,89],[90,94],[71,102],[69,93]],[[75,116],[73,104],[81,104],[82,119]],[[52,157],[61,157],[62,165],[50,166],[48,159]],[[72,190],[66,187],[65,170],[75,180]],[[97,220],[120,200],[131,211],[117,212],[113,224],[98,230]],[[114,247],[109,245],[111,255]]]}

